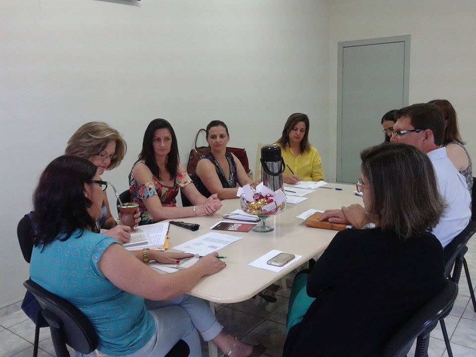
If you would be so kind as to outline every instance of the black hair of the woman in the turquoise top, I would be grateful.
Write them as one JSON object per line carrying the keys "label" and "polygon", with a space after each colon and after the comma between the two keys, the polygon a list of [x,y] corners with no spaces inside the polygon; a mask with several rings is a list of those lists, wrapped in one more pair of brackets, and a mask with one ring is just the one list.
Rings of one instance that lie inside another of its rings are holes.
{"label": "black hair of the woman in the turquoise top", "polygon": [[96,170],[89,160],[68,155],[46,167],[33,195],[35,246],[66,240],[77,229],[82,235],[85,228],[94,227],[87,211],[92,202],[84,194],[84,184],[93,179]]}

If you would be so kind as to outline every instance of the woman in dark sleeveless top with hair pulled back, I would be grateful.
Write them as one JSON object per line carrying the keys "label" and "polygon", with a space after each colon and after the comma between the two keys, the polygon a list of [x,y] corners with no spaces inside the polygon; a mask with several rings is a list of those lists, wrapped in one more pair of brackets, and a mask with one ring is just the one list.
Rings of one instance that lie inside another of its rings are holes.
{"label": "woman in dark sleeveless top with hair pulled back", "polygon": [[227,153],[230,141],[227,125],[220,120],[213,120],[207,125],[207,142],[211,153],[205,155],[197,164],[193,183],[205,197],[217,193],[219,199],[236,198],[238,184],[251,184],[254,188],[258,181],[253,182],[244,171],[238,158]]}

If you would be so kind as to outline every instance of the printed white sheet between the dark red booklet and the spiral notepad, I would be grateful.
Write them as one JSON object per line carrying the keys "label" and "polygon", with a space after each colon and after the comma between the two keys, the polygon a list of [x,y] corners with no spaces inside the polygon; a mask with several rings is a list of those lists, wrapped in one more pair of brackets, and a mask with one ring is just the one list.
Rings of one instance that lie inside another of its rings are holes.
{"label": "printed white sheet between the dark red booklet and the spiral notepad", "polygon": [[191,239],[185,243],[179,244],[174,249],[181,250],[186,253],[207,255],[216,250],[226,247],[228,244],[240,240],[242,237],[225,235],[222,233],[210,232],[203,236]]}

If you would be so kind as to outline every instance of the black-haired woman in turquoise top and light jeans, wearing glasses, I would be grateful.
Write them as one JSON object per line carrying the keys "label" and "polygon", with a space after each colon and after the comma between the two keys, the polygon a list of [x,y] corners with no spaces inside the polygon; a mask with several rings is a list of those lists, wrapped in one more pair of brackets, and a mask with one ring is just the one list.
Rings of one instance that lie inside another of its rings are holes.
{"label": "black-haired woman in turquoise top and light jeans, wearing glasses", "polygon": [[226,266],[216,252],[188,269],[162,275],[144,262],[177,263],[191,254],[129,252],[116,239],[91,232],[106,187],[89,160],[60,156],[48,165],[33,199],[31,279],[86,315],[102,354],[161,357],[182,339],[190,356],[199,357],[200,332],[231,357],[255,356],[257,349],[222,331],[203,300],[184,294]]}

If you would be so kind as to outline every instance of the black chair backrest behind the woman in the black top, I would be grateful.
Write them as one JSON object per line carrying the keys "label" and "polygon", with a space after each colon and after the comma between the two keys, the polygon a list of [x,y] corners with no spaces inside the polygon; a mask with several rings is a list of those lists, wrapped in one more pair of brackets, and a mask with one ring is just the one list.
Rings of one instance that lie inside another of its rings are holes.
{"label": "black chair backrest behind the woman in the black top", "polygon": [[447,279],[443,289],[424,304],[392,336],[385,346],[383,357],[405,357],[416,337],[429,334],[440,317],[453,306],[458,295],[458,285]]}

